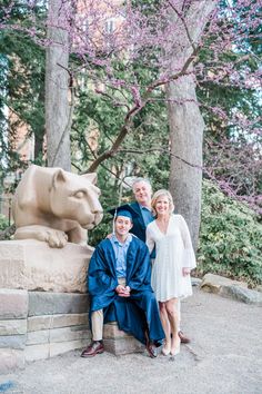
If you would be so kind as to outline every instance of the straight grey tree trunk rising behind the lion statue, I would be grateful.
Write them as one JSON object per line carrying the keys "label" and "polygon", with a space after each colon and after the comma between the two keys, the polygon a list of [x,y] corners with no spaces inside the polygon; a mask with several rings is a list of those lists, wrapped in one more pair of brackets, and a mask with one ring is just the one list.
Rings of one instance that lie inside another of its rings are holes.
{"label": "straight grey tree trunk rising behind the lion statue", "polygon": [[46,129],[48,166],[71,170],[69,105],[69,35],[57,27],[66,20],[66,2],[49,0],[46,60]]}

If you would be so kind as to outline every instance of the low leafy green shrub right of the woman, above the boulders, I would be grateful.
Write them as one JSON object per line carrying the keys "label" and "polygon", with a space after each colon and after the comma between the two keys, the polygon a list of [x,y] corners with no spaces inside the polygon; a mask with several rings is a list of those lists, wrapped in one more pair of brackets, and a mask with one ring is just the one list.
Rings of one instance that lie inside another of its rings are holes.
{"label": "low leafy green shrub right of the woman, above the boulders", "polygon": [[245,205],[203,183],[202,221],[196,274],[209,272],[262,283],[262,224]]}

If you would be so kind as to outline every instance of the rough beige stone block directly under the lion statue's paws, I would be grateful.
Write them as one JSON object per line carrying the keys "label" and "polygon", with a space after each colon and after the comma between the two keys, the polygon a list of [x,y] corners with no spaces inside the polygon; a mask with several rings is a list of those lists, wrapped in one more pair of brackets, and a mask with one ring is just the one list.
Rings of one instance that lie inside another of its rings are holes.
{"label": "rough beige stone block directly under the lion statue's paws", "polygon": [[0,288],[85,293],[87,269],[93,248],[68,243],[62,249],[47,243],[0,243]]}

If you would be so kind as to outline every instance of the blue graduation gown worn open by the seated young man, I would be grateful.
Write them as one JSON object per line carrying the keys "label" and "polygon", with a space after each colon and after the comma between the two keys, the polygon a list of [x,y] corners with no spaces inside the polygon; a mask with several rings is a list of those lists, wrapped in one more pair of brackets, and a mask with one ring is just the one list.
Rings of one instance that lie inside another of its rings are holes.
{"label": "blue graduation gown worn open by the seated young man", "polygon": [[88,286],[91,295],[90,312],[103,309],[104,323],[117,321],[119,328],[145,343],[148,327],[151,341],[161,342],[164,332],[158,303],[150,285],[151,264],[144,243],[132,237],[127,253],[127,286],[130,297],[120,297],[115,287],[115,255],[109,239],[95,248],[89,265]]}

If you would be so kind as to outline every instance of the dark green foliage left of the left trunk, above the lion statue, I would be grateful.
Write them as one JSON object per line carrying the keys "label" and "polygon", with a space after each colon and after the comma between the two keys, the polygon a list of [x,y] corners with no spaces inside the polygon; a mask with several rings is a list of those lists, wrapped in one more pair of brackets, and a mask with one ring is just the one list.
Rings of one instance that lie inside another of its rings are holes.
{"label": "dark green foliage left of the left trunk, above the lion statue", "polygon": [[[8,6],[10,1],[3,1]],[[13,150],[12,141],[27,125],[27,137],[34,137],[36,162],[41,162],[44,135],[44,49],[30,35],[10,29],[9,23],[29,28],[33,19],[42,20],[46,7],[28,9],[24,1],[10,8],[6,21],[4,8],[0,11],[6,28],[0,35],[0,184],[7,174],[23,170],[28,164]],[[43,29],[38,31],[43,33]],[[7,110],[8,109],[8,110]],[[13,117],[14,115],[14,117]]]}

